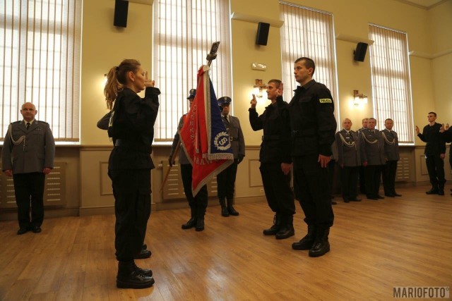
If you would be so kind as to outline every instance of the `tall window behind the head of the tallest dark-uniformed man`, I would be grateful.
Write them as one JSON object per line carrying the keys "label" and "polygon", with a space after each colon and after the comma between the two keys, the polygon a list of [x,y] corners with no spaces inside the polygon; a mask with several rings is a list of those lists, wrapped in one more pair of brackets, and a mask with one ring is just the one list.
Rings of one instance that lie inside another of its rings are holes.
{"label": "tall window behind the head of the tallest dark-uniformed man", "polygon": [[307,56],[316,63],[314,80],[326,85],[335,97],[338,114],[333,15],[283,1],[280,15],[284,20],[281,27],[284,98],[292,99],[292,91],[298,85],[293,73],[295,60]]}

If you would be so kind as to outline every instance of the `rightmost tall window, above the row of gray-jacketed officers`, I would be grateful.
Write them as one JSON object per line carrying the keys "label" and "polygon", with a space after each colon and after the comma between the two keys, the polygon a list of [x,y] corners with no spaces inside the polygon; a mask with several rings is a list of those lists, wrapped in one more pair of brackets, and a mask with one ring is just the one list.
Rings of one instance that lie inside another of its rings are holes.
{"label": "rightmost tall window, above the row of gray-jacketed officers", "polygon": [[400,143],[414,143],[408,38],[405,32],[369,24],[372,94],[379,128],[394,121]]}

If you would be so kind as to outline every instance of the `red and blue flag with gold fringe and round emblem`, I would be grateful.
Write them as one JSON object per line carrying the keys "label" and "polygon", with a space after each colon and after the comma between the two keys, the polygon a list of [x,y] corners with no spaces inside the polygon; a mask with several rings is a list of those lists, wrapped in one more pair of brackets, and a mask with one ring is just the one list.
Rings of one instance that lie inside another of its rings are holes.
{"label": "red and blue flag with gold fringe and round emblem", "polygon": [[221,119],[209,70],[210,67],[206,65],[198,70],[194,104],[179,132],[182,147],[193,166],[193,195],[234,161],[230,137]]}

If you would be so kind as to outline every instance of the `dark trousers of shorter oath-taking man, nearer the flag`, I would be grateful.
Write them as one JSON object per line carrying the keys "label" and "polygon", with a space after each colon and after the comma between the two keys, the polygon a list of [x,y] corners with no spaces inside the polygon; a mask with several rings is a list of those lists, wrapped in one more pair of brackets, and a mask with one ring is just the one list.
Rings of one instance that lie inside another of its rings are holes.
{"label": "dark trousers of shorter oath-taking man, nearer the flag", "polygon": [[261,162],[259,170],[270,209],[280,214],[294,215],[295,200],[290,188],[290,173],[285,175],[278,162]]}

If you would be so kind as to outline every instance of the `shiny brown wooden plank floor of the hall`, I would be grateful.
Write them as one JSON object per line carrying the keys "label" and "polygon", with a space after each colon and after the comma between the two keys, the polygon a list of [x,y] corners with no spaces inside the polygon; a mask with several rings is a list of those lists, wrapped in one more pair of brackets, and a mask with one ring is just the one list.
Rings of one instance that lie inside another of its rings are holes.
{"label": "shiny brown wooden plank floor of the hall", "polygon": [[189,209],[155,211],[145,242],[155,285],[116,288],[114,216],[45,219],[42,233],[16,235],[0,223],[0,300],[390,300],[395,286],[452,285],[452,197],[429,187],[403,197],[345,204],[336,197],[331,252],[310,258],[290,245],[306,232],[297,204],[295,236],[263,236],[266,203],[239,204],[224,218],[209,207],[206,230],[182,230]]}

